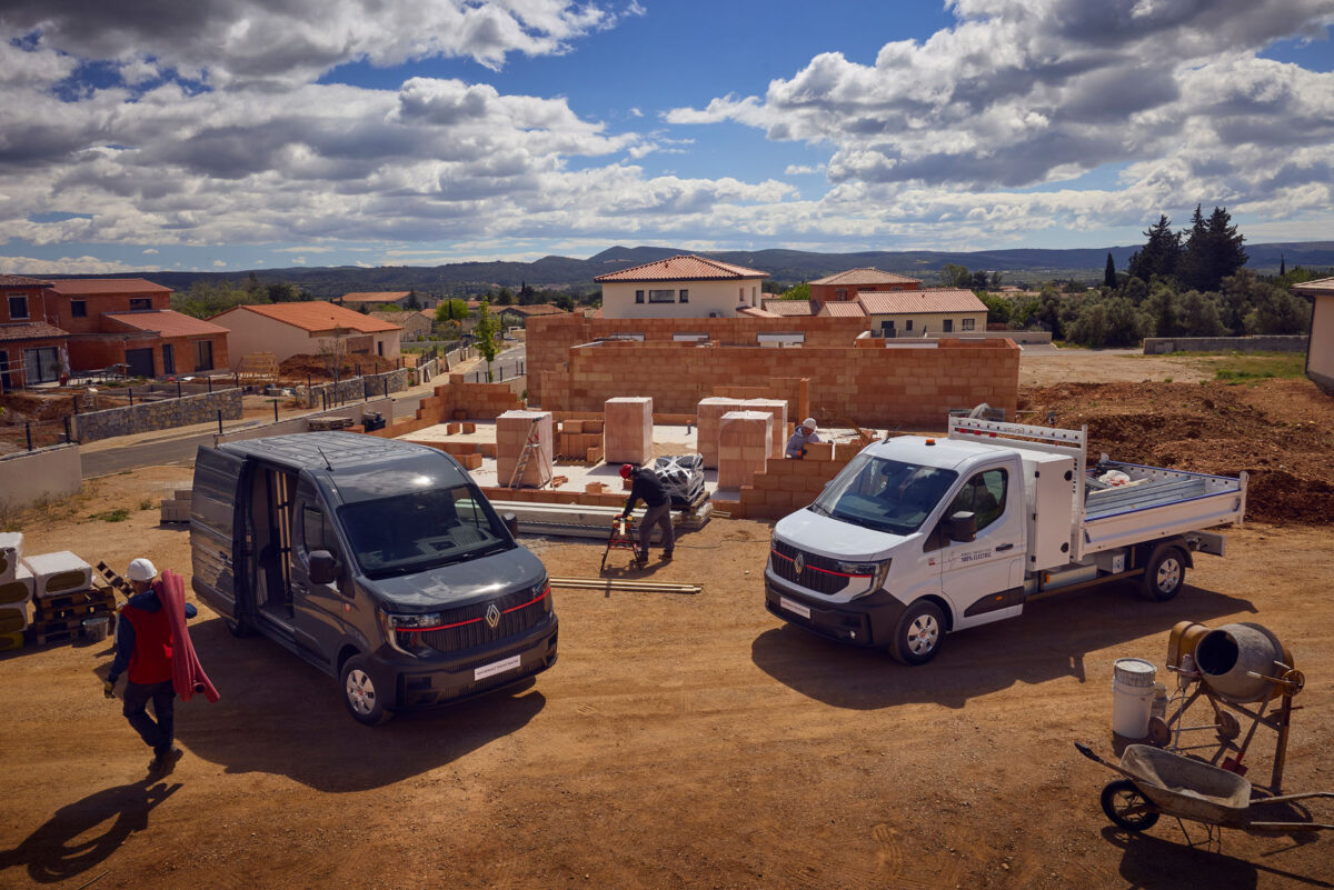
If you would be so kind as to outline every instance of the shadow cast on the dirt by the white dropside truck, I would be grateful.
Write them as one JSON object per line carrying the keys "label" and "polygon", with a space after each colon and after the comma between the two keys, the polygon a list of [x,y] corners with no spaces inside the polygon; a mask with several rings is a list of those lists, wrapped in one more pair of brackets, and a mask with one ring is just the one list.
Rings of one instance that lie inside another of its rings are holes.
{"label": "shadow cast on the dirt by the white dropside truck", "polygon": [[[1170,602],[1149,602],[1131,585],[1105,585],[1033,602],[1019,618],[948,634],[940,654],[918,668],[786,624],[755,638],[751,661],[790,689],[834,707],[875,710],[910,702],[963,707],[970,698],[1017,682],[1058,677],[1085,682],[1085,653],[1165,633],[1178,621],[1209,624],[1239,612],[1255,609],[1247,600],[1191,586]],[[1122,654],[1161,664],[1165,653],[1137,645]]]}

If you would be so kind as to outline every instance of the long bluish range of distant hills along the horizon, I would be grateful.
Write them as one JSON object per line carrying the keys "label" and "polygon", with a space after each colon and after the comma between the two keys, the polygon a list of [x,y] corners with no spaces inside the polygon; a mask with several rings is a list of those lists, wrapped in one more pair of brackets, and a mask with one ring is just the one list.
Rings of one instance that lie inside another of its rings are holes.
{"label": "long bluish range of distant hills along the horizon", "polygon": [[[327,298],[354,290],[418,290],[420,293],[454,294],[480,293],[488,288],[507,286],[518,290],[527,284],[538,289],[594,290],[599,274],[654,262],[679,253],[699,253],[723,262],[760,269],[770,278],[783,284],[796,284],[820,278],[835,272],[874,266],[882,272],[922,278],[926,284],[939,281],[946,264],[967,266],[976,272],[1000,272],[1006,284],[1038,284],[1053,278],[1101,281],[1111,253],[1117,269],[1125,269],[1138,245],[1114,248],[1081,248],[1047,250],[1018,248],[1013,250],[867,250],[862,253],[812,253],[807,250],[683,250],[674,248],[614,246],[588,257],[547,256],[534,262],[451,262],[439,266],[296,266],[288,269],[255,269],[263,284],[293,284],[313,296]],[[1249,268],[1262,274],[1275,274],[1279,258],[1291,269],[1334,268],[1334,241],[1295,241],[1282,244],[1247,244]],[[145,277],[172,288],[185,290],[195,281],[245,281],[249,272],[139,272],[100,277]],[[87,276],[45,276],[87,277]]]}

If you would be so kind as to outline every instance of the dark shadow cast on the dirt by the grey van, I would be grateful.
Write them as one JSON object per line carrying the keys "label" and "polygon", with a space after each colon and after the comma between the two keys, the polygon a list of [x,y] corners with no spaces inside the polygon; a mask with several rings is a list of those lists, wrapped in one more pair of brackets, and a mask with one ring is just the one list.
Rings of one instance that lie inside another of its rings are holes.
{"label": "dark shadow cast on the dirt by the grey van", "polygon": [[221,694],[176,702],[176,737],[187,757],[227,773],[272,773],[321,791],[400,782],[516,731],[546,705],[540,693],[498,691],[440,709],[358,723],[338,679],[271,640],[233,638],[220,618],[191,626],[191,640]]}

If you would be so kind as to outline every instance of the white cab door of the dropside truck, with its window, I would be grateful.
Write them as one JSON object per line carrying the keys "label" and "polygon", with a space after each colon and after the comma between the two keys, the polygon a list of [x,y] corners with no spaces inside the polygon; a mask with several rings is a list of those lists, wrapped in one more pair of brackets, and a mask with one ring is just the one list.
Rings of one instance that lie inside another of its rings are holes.
{"label": "white cab door of the dropside truck, with its window", "polygon": [[954,629],[1010,618],[1023,609],[1023,477],[1018,466],[979,469],[963,481],[942,520],[960,510],[978,521],[971,542],[942,534],[940,588]]}

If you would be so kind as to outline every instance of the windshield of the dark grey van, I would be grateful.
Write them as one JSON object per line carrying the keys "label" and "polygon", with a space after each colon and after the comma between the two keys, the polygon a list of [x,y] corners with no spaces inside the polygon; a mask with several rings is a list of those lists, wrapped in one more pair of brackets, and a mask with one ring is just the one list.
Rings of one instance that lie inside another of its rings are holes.
{"label": "windshield of the dark grey van", "polygon": [[512,546],[495,510],[467,485],[346,504],[339,517],[368,576],[422,572]]}

